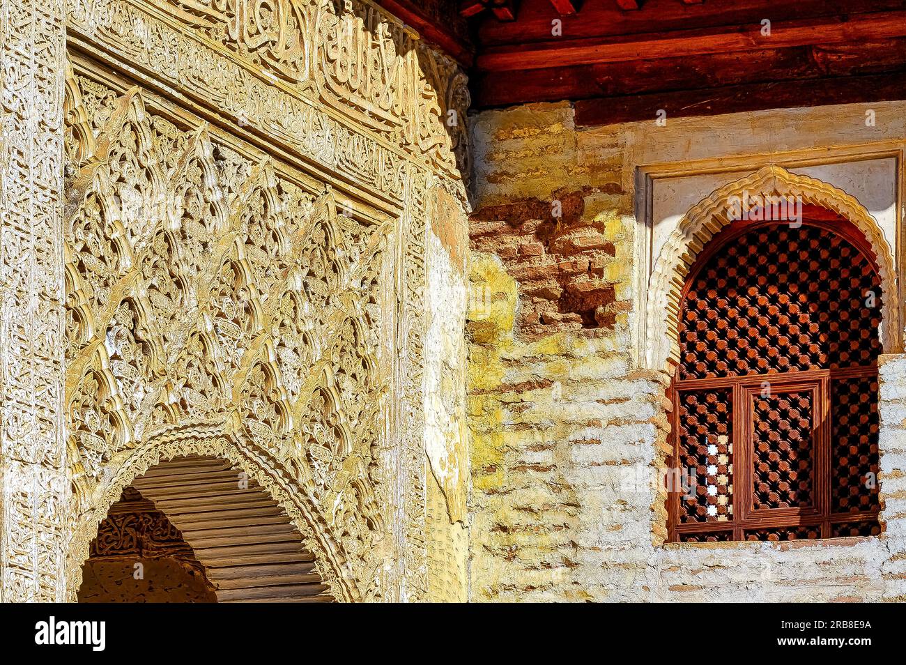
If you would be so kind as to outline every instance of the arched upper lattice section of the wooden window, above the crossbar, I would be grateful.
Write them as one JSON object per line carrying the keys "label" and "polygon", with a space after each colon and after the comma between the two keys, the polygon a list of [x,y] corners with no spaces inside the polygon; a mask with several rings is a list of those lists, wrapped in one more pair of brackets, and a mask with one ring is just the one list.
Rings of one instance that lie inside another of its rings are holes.
{"label": "arched upper lattice section of the wooden window, above the crossbar", "polygon": [[679,378],[868,364],[881,343],[881,279],[819,226],[763,226],[708,260],[679,322]]}

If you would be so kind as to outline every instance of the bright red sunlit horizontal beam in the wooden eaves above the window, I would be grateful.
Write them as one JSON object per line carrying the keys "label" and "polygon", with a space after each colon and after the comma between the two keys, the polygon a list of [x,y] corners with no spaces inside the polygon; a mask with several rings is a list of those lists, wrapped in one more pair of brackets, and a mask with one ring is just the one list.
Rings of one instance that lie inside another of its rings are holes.
{"label": "bright red sunlit horizontal beam in the wooden eaves above the window", "polygon": [[770,36],[761,34],[761,25],[756,24],[488,47],[478,55],[477,67],[486,72],[507,72],[900,36],[906,36],[906,11],[776,21]]}

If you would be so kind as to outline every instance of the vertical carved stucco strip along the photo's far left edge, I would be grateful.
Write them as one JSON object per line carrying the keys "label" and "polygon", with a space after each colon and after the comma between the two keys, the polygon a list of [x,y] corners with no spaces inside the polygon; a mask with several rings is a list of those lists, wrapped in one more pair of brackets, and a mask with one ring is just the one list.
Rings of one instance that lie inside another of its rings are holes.
{"label": "vertical carved stucco strip along the photo's far left edge", "polygon": [[0,601],[63,600],[62,0],[0,5]]}

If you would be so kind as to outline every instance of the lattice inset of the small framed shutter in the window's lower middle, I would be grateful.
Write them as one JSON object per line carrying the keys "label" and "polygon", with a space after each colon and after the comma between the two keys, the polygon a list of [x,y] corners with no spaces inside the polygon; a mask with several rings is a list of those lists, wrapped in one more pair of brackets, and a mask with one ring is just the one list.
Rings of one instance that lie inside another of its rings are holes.
{"label": "lattice inset of the small framed shutter in the window's lower middle", "polygon": [[756,510],[812,504],[813,402],[805,390],[755,399]]}

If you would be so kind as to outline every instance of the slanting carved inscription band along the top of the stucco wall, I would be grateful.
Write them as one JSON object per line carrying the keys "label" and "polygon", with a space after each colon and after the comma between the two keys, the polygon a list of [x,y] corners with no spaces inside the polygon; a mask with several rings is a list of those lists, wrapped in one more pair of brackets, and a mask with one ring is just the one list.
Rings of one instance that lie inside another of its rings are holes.
{"label": "slanting carved inscription band along the top of the stucco wall", "polygon": [[67,0],[101,43],[188,99],[400,201],[406,162],[468,173],[467,80],[355,0]]}

